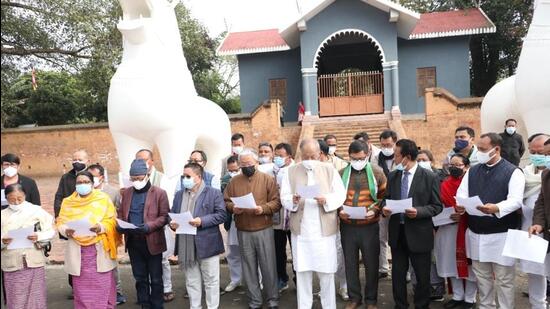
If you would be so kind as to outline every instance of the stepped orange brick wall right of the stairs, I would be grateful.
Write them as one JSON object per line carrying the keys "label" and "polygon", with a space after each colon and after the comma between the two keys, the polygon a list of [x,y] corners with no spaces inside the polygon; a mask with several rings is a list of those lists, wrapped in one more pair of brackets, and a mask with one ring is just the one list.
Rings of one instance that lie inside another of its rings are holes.
{"label": "stepped orange brick wall right of the stairs", "polygon": [[442,88],[426,89],[425,119],[402,120],[407,138],[422,149],[429,149],[440,164],[454,145],[457,127],[470,126],[480,135],[481,101],[482,98],[458,99]]}

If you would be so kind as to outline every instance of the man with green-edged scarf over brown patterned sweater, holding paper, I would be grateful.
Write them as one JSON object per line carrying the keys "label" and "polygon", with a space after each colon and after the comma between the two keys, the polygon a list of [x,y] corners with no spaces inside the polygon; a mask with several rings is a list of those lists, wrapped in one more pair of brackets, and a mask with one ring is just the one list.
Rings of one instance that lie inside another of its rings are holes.
{"label": "man with green-edged scarf over brown patterned sweater, holding paper", "polygon": [[[344,249],[346,281],[350,303],[354,309],[363,302],[359,280],[359,252],[365,266],[365,295],[367,308],[376,306],[378,297],[378,256],[380,206],[386,191],[384,171],[368,162],[369,146],[354,141],[348,148],[351,164],[340,171],[346,187],[346,201],[338,213],[340,235]],[[361,210],[359,214],[354,210]],[[352,213],[353,212],[353,213]]]}

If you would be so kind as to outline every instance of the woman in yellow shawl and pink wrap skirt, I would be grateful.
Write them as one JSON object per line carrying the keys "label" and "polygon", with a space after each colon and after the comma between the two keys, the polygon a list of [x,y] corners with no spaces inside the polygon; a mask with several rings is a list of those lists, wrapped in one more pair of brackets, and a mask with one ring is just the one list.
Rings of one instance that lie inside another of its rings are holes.
{"label": "woman in yellow shawl and pink wrap skirt", "polygon": [[[75,309],[106,309],[116,306],[117,245],[116,210],[109,196],[93,189],[90,172],[76,177],[76,192],[63,200],[57,228],[68,238],[65,271],[72,276]],[[79,236],[71,221],[87,220],[91,236]]]}

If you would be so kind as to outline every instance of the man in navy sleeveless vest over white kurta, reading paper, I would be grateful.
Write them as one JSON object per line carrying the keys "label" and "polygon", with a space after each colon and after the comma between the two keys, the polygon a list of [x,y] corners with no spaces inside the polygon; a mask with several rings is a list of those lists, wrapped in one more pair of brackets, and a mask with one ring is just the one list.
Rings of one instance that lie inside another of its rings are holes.
{"label": "man in navy sleeveless vest over white kurta, reading paper", "polygon": [[[515,259],[502,255],[508,229],[520,227],[517,212],[523,202],[525,176],[500,156],[502,138],[496,133],[480,136],[477,144],[478,165],[471,167],[456,193],[459,198],[478,196],[477,207],[489,216],[468,216],[466,252],[472,259],[481,308],[496,308],[496,289],[500,308],[514,308]],[[464,213],[464,205],[457,212]],[[494,281],[498,282],[495,284]]]}

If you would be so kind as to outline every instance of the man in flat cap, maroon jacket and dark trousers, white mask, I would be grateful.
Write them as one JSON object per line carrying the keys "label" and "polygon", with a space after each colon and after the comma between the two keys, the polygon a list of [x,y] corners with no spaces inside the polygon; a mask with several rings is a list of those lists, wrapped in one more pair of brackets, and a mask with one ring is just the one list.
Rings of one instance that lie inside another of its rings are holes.
{"label": "man in flat cap, maroon jacket and dark trousers, white mask", "polygon": [[132,187],[121,194],[117,217],[137,226],[137,229],[117,230],[124,234],[136,280],[138,304],[142,308],[162,309],[162,252],[166,251],[164,226],[170,206],[166,192],[151,185],[147,164],[136,159],[130,167]]}

